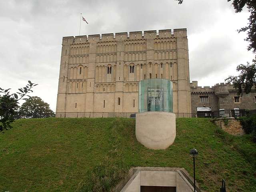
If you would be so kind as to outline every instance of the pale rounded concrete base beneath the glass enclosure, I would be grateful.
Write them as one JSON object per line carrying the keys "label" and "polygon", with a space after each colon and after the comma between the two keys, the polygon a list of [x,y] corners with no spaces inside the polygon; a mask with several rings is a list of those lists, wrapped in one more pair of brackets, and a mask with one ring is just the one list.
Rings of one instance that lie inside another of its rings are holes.
{"label": "pale rounded concrete base beneath the glass enclosure", "polygon": [[166,149],[176,137],[176,117],[169,112],[136,114],[136,138],[150,149]]}

